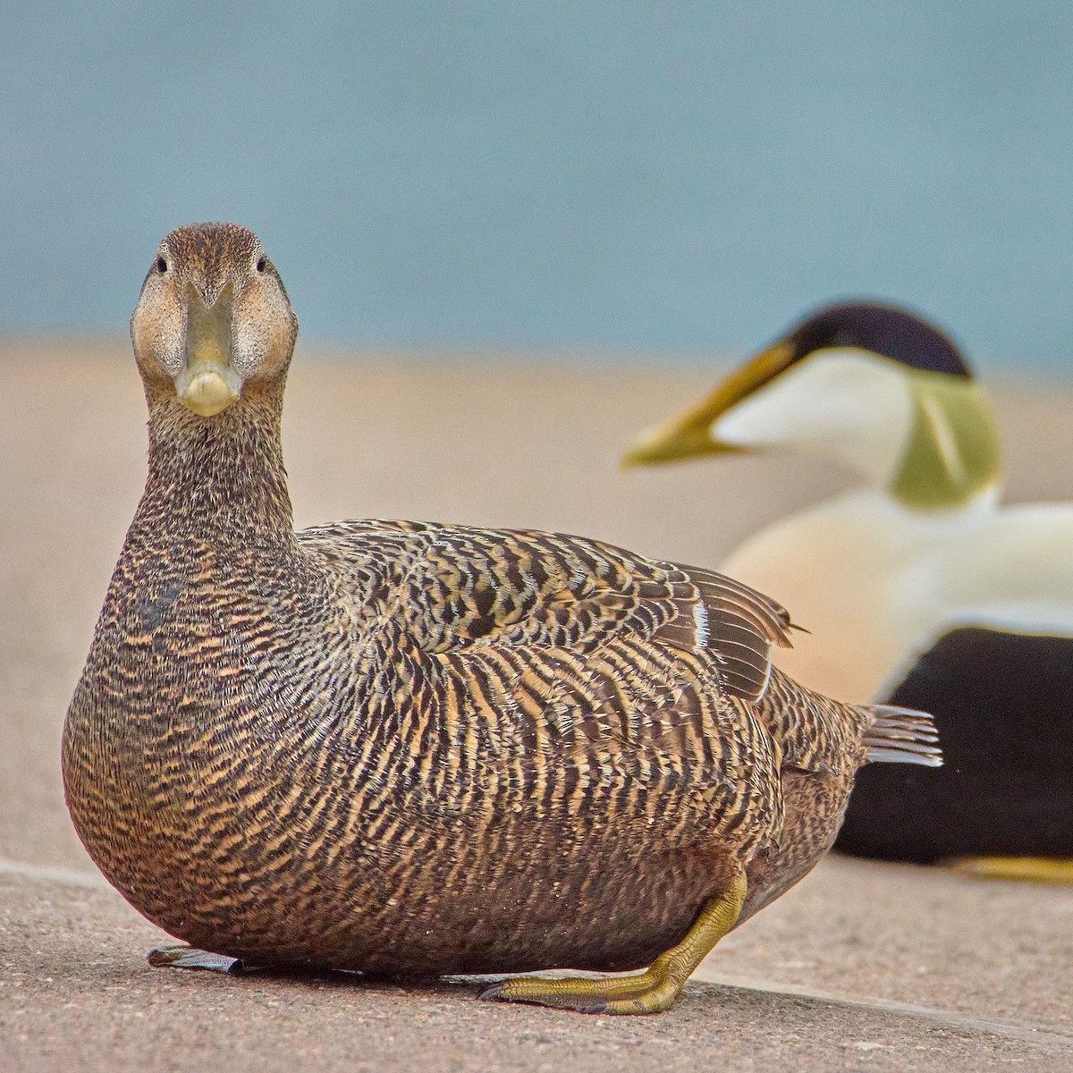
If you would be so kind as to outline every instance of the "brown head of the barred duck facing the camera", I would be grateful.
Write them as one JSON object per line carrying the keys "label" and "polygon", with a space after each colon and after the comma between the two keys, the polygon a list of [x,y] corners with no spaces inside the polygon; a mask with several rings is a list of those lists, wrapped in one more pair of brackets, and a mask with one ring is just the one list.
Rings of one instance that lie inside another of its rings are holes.
{"label": "brown head of the barred duck facing the camera", "polygon": [[157,255],[131,318],[150,402],[177,398],[210,418],[247,387],[282,387],[298,334],[275,267],[233,223],[177,227]]}

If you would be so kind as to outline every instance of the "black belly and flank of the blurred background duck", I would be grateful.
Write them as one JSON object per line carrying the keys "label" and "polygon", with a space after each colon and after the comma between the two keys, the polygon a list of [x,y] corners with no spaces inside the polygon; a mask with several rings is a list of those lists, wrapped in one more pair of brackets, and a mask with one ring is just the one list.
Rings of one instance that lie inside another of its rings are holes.
{"label": "black belly and flank of the blurred background duck", "polygon": [[1073,637],[954,630],[885,703],[935,716],[944,765],[863,768],[836,850],[918,864],[1073,856]]}

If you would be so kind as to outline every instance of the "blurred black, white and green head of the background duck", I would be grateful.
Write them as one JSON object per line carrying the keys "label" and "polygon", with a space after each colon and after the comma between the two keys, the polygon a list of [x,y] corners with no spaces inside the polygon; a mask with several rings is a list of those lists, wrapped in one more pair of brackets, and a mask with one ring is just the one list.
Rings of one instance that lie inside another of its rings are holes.
{"label": "blurred black, white and green head of the background duck", "polygon": [[642,432],[622,460],[774,450],[837,459],[916,509],[960,505],[999,474],[990,408],[957,348],[908,310],[872,303],[800,321]]}

